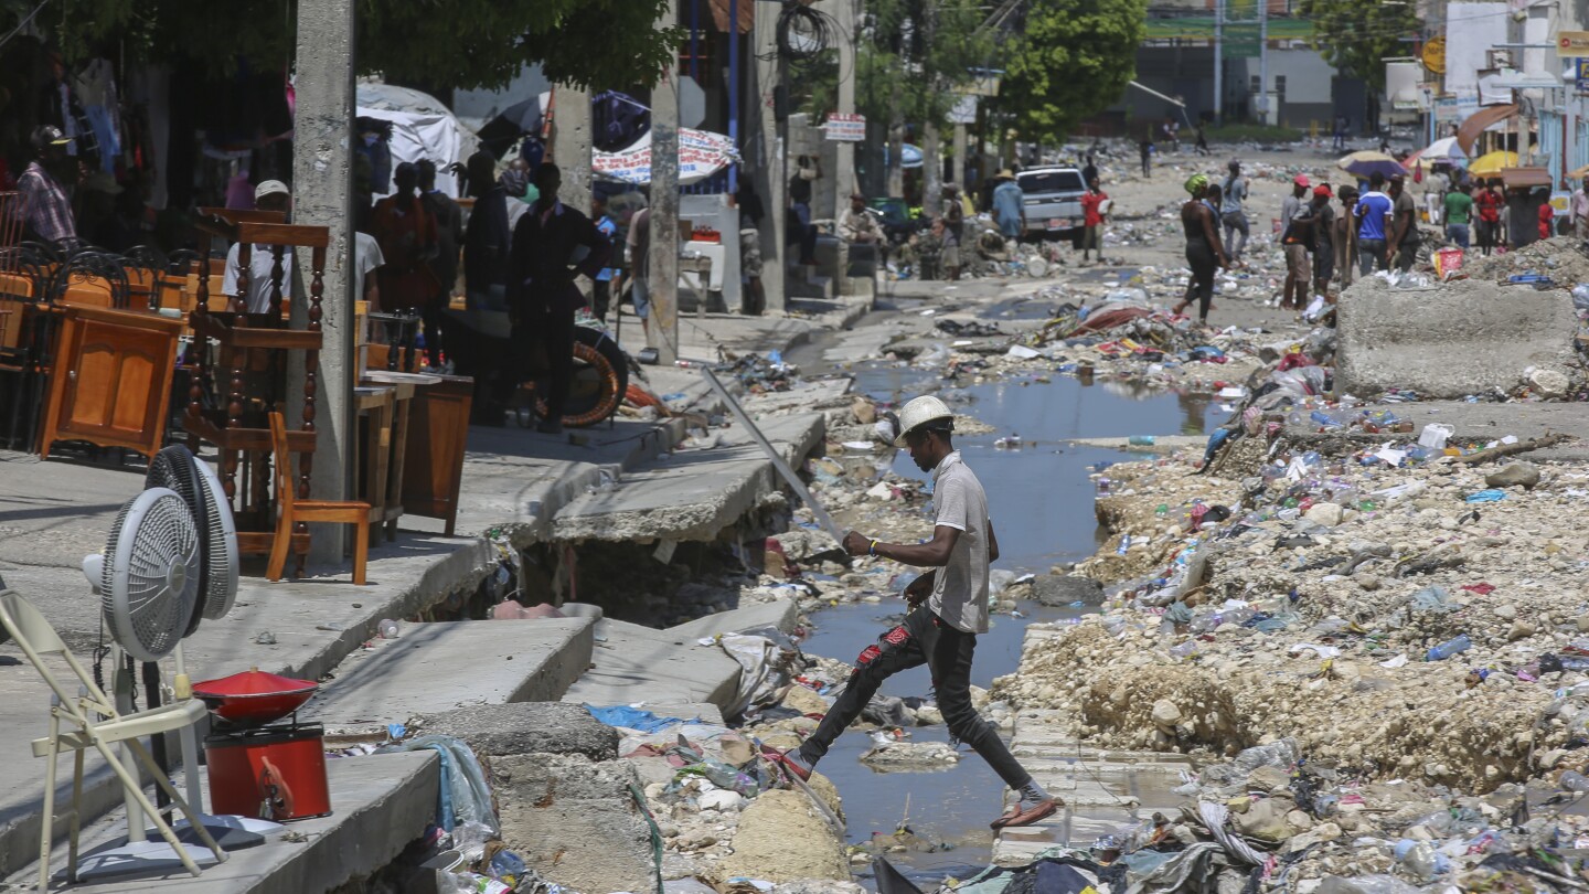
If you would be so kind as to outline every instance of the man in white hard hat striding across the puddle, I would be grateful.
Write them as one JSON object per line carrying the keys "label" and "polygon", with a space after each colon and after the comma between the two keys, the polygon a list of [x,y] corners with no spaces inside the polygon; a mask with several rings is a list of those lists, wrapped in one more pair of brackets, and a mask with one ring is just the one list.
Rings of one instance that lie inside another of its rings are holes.
{"label": "man in white hard hat striding across the puddle", "polygon": [[850,555],[880,555],[928,568],[906,587],[910,604],[904,624],[868,646],[855,663],[844,692],[799,749],[777,754],[801,779],[828,746],[871,702],[882,681],[907,668],[926,665],[938,692],[938,708],[949,732],[969,744],[1014,789],[1020,800],[993,829],[1030,826],[1052,814],[1060,800],[1042,791],[1009,748],[971,706],[971,657],[977,633],[988,630],[988,563],[998,558],[998,538],[988,519],[982,482],[961,461],[950,439],[955,415],[938,398],[917,398],[899,410],[896,447],[910,452],[915,464],[933,472],[933,504],[938,509],[933,539],[923,544],[890,544],[850,531],[844,549]]}

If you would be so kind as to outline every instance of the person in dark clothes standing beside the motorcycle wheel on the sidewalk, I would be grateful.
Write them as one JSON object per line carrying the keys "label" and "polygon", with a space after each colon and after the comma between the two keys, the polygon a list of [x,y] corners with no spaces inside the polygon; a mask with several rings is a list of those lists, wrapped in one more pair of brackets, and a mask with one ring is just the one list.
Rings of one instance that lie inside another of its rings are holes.
{"label": "person in dark clothes standing beside the motorcycle wheel on the sidewalk", "polygon": [[563,410],[574,382],[574,312],[585,304],[574,275],[596,278],[612,255],[612,243],[596,224],[558,200],[561,188],[558,165],[540,162],[535,169],[540,197],[513,231],[512,339],[515,345],[534,344],[547,352],[547,415],[535,426],[542,434],[563,433]]}

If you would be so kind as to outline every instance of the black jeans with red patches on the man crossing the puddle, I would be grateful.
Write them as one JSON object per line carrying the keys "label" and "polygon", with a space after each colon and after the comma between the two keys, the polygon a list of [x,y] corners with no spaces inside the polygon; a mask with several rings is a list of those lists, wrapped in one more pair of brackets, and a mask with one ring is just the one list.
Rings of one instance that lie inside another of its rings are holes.
{"label": "black jeans with red patches on the man crossing the puddle", "polygon": [[861,708],[885,679],[925,663],[933,673],[938,709],[944,713],[949,733],[976,749],[1006,786],[1020,789],[1031,781],[1031,773],[1009,752],[998,730],[971,706],[971,655],[976,647],[976,633],[944,624],[925,604],[914,609],[904,624],[883,633],[876,646],[861,652],[839,700],[817,725],[817,732],[799,746],[801,757],[809,764],[822,760],[833,740],[861,716]]}

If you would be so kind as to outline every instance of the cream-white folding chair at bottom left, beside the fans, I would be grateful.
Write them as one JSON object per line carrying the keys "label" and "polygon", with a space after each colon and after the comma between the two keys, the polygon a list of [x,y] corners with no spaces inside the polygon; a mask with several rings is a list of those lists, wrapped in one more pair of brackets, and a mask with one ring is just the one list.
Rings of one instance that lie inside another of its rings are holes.
{"label": "cream-white folding chair at bottom left, beside the fans", "polygon": [[[145,770],[154,776],[154,781],[165,789],[170,795],[172,803],[175,803],[192,826],[194,832],[203,842],[210,853],[215,854],[218,861],[226,861],[226,853],[216,845],[215,838],[205,830],[203,824],[199,821],[199,814],[194,808],[183,800],[172,781],[165,778],[165,773],[154,764],[149,757],[140,738],[148,738],[153,735],[164,735],[168,732],[180,730],[195,724],[203,717],[205,706],[203,702],[191,698],[186,702],[175,702],[170,705],[162,705],[159,708],[151,708],[148,711],[138,711],[135,714],[119,714],[116,713],[116,703],[110,700],[105,692],[94,682],[94,678],[87,670],[72,655],[65,643],[60,641],[60,635],[56,628],[44,620],[44,616],[33,608],[32,603],[24,600],[14,590],[0,592],[0,625],[5,625],[6,633],[16,641],[22,654],[27,655],[33,670],[38,676],[44,678],[44,682],[54,692],[49,708],[49,735],[46,738],[33,740],[33,757],[48,759],[44,768],[44,816],[43,829],[38,835],[38,889],[49,889],[49,851],[51,851],[51,829],[54,826],[54,810],[56,810],[56,759],[64,751],[73,752],[73,770],[72,770],[72,832],[68,838],[68,856],[67,856],[67,881],[76,881],[78,870],[78,832],[81,829],[81,802],[83,802],[83,754],[87,749],[95,749],[110,765],[116,778],[121,779],[122,789],[126,789],[127,799],[143,808],[143,814],[154,822],[154,827],[160,832],[160,837],[176,851],[176,856],[183,861],[188,872],[199,875],[199,864],[194,862],[188,851],[183,848],[181,842],[176,838],[176,832],[172,830],[170,824],[160,818],[154,805],[149,803],[148,795],[138,786],[137,778],[127,770],[127,767],[116,757],[111,744],[122,744],[138,762],[143,764]],[[44,663],[44,657],[59,657],[72,668],[72,673],[78,678],[78,694],[67,689],[51,668]],[[195,767],[188,768],[189,773],[195,773]],[[129,829],[129,838],[135,838],[140,830]]]}

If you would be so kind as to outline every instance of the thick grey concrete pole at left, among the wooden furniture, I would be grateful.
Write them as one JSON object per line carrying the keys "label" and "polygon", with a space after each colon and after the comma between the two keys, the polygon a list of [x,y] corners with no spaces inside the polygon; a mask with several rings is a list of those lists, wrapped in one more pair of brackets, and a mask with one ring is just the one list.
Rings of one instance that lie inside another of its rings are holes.
{"label": "thick grey concrete pole at left, among the wooden furniture", "polygon": [[[321,350],[315,404],[315,499],[348,499],[353,490],[353,60],[354,0],[315,0],[297,5],[297,113],[292,132],[292,223],[331,227],[326,251]],[[308,283],[308,251],[296,251]],[[294,291],[292,318],[307,321],[308,297]],[[288,391],[302,395],[302,367]],[[316,525],[310,558],[342,563],[346,525]]]}

